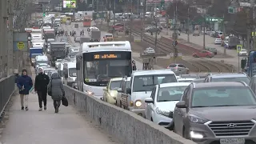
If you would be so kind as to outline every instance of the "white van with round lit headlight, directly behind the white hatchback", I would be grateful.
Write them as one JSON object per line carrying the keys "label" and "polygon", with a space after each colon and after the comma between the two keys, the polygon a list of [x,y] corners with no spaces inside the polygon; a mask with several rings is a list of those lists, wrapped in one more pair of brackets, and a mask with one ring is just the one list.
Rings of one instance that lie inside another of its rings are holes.
{"label": "white van with round lit headlight, directly behind the white hatchback", "polygon": [[155,85],[178,82],[176,75],[170,70],[138,70],[130,77],[130,86],[122,93],[122,107],[142,117],[145,115],[145,99],[150,98]]}

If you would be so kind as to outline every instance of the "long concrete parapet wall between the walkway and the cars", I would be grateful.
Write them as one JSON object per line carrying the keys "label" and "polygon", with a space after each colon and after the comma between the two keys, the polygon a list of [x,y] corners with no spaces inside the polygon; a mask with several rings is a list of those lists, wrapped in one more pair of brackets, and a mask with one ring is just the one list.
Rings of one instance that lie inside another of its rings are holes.
{"label": "long concrete parapet wall between the walkway and the cars", "polygon": [[64,86],[66,98],[124,144],[195,144],[137,114]]}

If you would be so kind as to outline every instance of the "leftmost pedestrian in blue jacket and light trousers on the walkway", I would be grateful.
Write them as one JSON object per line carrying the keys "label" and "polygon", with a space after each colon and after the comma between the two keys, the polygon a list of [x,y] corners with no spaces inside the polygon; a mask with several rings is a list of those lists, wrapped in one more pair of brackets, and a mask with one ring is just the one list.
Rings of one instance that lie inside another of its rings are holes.
{"label": "leftmost pedestrian in blue jacket and light trousers on the walkway", "polygon": [[[29,110],[28,108],[29,94],[30,94],[30,89],[33,86],[33,82],[32,82],[32,79],[27,75],[26,69],[22,70],[22,76],[18,78],[17,86],[19,89],[20,97],[21,97],[22,110],[24,110],[24,104],[25,104],[25,110]],[[24,102],[24,97],[25,97],[25,102]]]}

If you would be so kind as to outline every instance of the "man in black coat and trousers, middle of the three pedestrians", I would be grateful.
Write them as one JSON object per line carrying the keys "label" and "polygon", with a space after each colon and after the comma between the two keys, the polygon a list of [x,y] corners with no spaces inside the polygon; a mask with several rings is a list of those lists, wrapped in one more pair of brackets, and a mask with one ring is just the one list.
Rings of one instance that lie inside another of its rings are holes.
{"label": "man in black coat and trousers, middle of the three pedestrians", "polygon": [[34,91],[38,93],[39,111],[42,111],[42,102],[44,110],[47,104],[47,86],[49,84],[48,75],[44,74],[42,68],[39,68],[39,74],[35,77]]}

